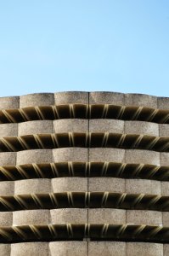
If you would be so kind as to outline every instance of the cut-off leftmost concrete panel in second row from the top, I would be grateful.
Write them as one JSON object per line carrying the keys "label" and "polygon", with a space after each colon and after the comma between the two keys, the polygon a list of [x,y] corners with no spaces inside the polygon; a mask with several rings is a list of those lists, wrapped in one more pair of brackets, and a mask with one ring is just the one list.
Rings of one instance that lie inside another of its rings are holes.
{"label": "cut-off leftmost concrete panel in second row from the top", "polygon": [[17,136],[18,124],[0,124],[0,137]]}

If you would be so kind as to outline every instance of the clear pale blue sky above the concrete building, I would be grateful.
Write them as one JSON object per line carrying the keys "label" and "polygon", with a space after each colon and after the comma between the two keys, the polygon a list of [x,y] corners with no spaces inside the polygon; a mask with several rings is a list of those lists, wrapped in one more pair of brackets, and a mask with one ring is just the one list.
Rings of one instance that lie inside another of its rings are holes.
{"label": "clear pale blue sky above the concrete building", "polygon": [[0,96],[169,96],[168,0],[1,0]]}

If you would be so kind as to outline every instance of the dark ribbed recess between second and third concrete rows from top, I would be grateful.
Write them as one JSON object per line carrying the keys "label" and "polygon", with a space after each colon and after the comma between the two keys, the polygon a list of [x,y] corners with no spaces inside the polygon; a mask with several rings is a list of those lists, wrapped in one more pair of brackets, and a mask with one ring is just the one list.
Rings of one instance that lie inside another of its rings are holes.
{"label": "dark ribbed recess between second and third concrete rows from top", "polygon": [[1,152],[42,148],[122,148],[169,152],[169,137],[108,132],[61,132],[0,137]]}

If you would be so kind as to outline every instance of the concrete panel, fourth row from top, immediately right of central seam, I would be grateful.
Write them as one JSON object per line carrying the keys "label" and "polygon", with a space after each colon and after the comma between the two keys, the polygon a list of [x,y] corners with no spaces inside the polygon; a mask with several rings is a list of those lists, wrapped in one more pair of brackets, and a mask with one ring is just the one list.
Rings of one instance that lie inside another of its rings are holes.
{"label": "concrete panel, fourth row from top, immediately right of central seam", "polygon": [[90,177],[89,191],[125,192],[125,179],[117,177]]}

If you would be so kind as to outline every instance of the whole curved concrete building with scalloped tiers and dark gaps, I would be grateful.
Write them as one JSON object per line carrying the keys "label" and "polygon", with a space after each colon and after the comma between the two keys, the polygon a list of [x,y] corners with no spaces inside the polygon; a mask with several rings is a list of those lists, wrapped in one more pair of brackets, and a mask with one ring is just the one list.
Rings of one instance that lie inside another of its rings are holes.
{"label": "whole curved concrete building with scalloped tiers and dark gaps", "polygon": [[0,98],[0,255],[168,256],[169,98]]}

